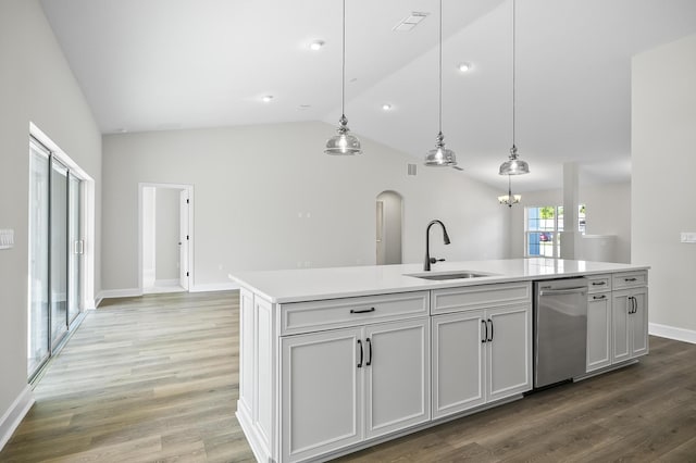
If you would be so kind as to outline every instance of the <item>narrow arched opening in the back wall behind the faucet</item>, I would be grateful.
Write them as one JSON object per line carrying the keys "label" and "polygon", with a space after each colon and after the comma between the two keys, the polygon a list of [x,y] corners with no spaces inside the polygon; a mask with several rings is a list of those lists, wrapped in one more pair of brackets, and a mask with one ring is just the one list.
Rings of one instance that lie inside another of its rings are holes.
{"label": "narrow arched opening in the back wall behind the faucet", "polygon": [[401,234],[403,226],[403,198],[386,190],[376,198],[376,263],[401,263]]}

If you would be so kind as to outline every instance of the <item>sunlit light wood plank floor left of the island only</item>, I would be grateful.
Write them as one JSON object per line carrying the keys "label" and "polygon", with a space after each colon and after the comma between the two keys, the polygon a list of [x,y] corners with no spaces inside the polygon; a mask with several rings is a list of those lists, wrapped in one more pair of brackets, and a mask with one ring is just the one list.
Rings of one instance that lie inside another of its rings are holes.
{"label": "sunlit light wood plank floor left of the island only", "polygon": [[234,416],[238,292],[109,300],[34,390],[0,462],[254,461]]}

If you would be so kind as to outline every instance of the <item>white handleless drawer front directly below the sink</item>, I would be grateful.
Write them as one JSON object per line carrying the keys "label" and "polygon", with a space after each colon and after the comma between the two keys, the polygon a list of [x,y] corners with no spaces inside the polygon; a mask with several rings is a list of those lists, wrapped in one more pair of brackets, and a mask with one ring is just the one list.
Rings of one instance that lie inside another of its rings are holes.
{"label": "white handleless drawer front directly below the sink", "polygon": [[532,283],[501,283],[433,291],[433,315],[532,301]]}

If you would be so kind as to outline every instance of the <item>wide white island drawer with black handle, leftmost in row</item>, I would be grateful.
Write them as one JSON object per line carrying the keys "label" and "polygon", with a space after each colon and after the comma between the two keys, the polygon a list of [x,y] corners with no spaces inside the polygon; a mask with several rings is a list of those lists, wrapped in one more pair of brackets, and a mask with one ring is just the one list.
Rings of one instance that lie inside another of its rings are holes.
{"label": "wide white island drawer with black handle, leftmost in row", "polygon": [[428,314],[430,292],[293,302],[281,305],[281,336]]}

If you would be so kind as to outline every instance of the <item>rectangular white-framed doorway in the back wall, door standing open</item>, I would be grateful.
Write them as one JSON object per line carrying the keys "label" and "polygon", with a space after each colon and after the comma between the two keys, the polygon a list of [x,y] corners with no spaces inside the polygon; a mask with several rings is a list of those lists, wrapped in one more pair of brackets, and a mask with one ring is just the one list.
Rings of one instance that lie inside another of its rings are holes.
{"label": "rectangular white-framed doorway in the back wall, door standing open", "polygon": [[191,185],[140,184],[139,253],[144,293],[188,291],[192,280]]}

